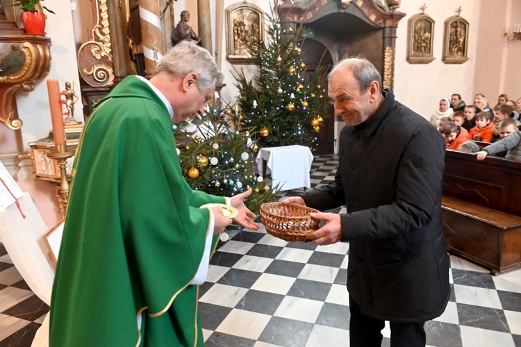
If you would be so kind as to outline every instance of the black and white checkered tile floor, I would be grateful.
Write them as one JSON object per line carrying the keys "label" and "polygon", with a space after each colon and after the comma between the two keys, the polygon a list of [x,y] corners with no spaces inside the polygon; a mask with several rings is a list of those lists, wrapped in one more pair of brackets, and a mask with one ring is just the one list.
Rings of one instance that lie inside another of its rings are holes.
{"label": "black and white checkered tile floor", "polygon": [[[337,162],[336,155],[315,158],[313,187],[333,178]],[[199,289],[206,346],[349,346],[349,244],[288,243],[262,226],[229,234]],[[521,347],[521,270],[494,277],[451,255],[450,275],[452,296],[444,314],[425,324],[427,345]],[[0,346],[30,346],[47,310],[0,245]],[[389,346],[388,325],[383,336]]]}

